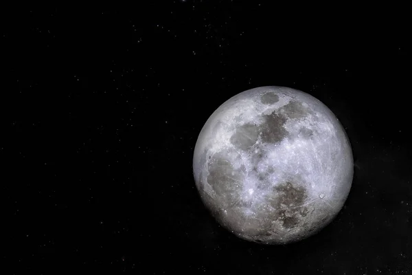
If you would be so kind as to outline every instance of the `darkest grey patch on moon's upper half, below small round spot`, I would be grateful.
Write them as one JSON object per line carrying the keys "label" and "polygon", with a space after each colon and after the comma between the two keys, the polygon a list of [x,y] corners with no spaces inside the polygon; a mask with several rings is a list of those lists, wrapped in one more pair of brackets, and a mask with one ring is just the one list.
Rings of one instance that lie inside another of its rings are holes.
{"label": "darkest grey patch on moon's upper half, below small round spot", "polygon": [[263,115],[263,118],[265,119],[261,132],[263,142],[277,143],[288,135],[289,132],[284,128],[287,120],[284,115],[273,112],[270,115]]}

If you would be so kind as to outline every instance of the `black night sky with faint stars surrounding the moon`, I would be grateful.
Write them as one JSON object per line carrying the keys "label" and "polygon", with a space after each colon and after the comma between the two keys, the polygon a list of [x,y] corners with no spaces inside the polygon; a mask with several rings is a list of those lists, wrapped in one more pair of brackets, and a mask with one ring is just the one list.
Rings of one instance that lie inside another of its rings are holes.
{"label": "black night sky with faint stars surrounding the moon", "polygon": [[[406,7],[141,2],[2,12],[10,274],[412,274]],[[324,102],[356,161],[339,216],[293,245],[220,228],[192,176],[209,115],[266,85]]]}

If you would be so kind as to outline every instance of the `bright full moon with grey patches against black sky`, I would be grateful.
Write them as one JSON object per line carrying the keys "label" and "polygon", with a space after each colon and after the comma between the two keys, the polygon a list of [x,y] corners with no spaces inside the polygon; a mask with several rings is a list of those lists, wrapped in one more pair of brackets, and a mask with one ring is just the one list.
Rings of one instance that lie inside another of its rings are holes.
{"label": "bright full moon with grey patches against black sky", "polygon": [[288,87],[243,91],[211,114],[193,156],[196,188],[236,236],[286,244],[316,234],[352,186],[350,141],[320,100]]}

